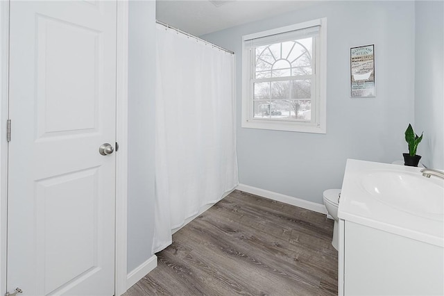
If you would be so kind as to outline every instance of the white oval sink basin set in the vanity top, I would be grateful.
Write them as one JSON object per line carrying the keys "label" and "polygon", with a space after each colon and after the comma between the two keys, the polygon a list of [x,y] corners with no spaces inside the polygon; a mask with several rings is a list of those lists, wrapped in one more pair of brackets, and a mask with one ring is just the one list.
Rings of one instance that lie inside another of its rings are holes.
{"label": "white oval sink basin set in the vanity top", "polygon": [[368,172],[361,178],[364,190],[379,202],[438,221],[443,221],[443,183],[422,174],[397,170]]}

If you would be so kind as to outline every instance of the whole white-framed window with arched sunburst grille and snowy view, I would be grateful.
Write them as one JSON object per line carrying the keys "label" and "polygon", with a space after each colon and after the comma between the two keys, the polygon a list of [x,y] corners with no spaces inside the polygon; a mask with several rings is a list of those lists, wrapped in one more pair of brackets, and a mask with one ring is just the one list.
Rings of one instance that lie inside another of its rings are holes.
{"label": "whole white-framed window with arched sunburst grille and snowy view", "polygon": [[245,35],[242,127],[325,133],[326,19]]}

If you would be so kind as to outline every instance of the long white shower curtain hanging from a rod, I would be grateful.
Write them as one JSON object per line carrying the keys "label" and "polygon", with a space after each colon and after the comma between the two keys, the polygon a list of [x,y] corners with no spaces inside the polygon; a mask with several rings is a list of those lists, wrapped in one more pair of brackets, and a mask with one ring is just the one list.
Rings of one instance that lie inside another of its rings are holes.
{"label": "long white shower curtain hanging from a rod", "polygon": [[234,55],[157,24],[153,253],[237,177]]}

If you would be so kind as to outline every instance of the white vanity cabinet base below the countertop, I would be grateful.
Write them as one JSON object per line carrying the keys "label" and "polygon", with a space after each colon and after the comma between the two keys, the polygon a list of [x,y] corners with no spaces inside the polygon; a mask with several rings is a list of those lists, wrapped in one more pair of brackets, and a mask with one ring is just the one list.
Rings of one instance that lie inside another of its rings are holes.
{"label": "white vanity cabinet base below the countertop", "polygon": [[344,220],[339,227],[339,295],[444,295],[443,247]]}

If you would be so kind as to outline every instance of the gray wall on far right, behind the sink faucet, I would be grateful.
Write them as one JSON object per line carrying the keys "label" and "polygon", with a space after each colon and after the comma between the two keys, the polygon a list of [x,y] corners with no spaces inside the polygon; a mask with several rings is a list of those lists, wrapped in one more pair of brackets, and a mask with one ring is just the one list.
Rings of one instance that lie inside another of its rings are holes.
{"label": "gray wall on far right, behind the sink faucet", "polygon": [[415,131],[427,167],[444,170],[444,3],[416,1]]}

